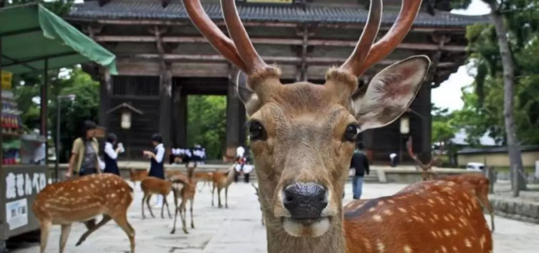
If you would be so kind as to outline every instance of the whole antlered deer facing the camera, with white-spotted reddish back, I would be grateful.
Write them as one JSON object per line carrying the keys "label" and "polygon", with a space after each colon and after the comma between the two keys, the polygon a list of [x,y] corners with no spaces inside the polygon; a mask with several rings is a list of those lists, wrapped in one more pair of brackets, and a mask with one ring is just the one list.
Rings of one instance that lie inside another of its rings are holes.
{"label": "whole antlered deer facing the camera, with white-spotted reddish back", "polygon": [[[471,209],[471,215],[464,216],[448,204],[449,197],[458,197],[465,206],[473,206],[475,200],[464,199],[467,188],[459,184],[443,182],[444,186],[421,195],[404,193],[373,200],[368,202],[374,203],[372,211],[367,204],[342,208],[357,135],[398,119],[412,103],[429,69],[426,56],[407,58],[386,67],[364,92],[353,95],[358,77],[402,42],[420,0],[403,0],[396,23],[374,45],[382,1],[371,0],[356,49],[344,64],[328,70],[324,85],[282,85],[278,67],[266,64],[255,51],[234,0],[221,1],[232,39],[211,21],[199,0],[183,3],[208,42],[246,73],[245,84],[238,82],[237,87],[250,116],[248,129],[266,219],[268,253],[492,251],[492,235],[476,225],[485,223],[482,212]],[[437,195],[446,204],[431,207],[424,203]],[[462,219],[462,227],[444,220],[429,224],[419,217],[422,214],[452,214]],[[413,216],[418,219],[408,219]],[[455,234],[451,234],[452,229]],[[432,236],[444,230],[450,234]]]}

